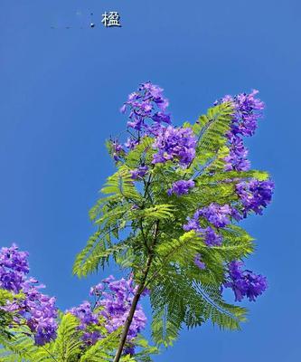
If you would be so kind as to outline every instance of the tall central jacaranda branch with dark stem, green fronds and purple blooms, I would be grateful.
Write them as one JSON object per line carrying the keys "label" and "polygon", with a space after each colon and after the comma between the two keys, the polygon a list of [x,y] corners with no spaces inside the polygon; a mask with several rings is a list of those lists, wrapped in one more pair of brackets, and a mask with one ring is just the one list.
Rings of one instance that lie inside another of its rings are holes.
{"label": "tall central jacaranda branch with dark stem, green fronds and purple blooms", "polygon": [[87,276],[108,262],[136,282],[114,358],[123,354],[138,300],[149,293],[153,338],[170,345],[183,325],[212,320],[239,329],[246,309],[225,302],[255,300],[266,278],[243,269],[254,250],[238,222],[271,201],[268,173],[250,170],[243,138],[252,136],[264,104],[257,91],[226,96],[193,125],[172,125],[163,90],[146,82],[121,108],[128,113],[125,143],[108,141],[117,171],[90,210],[97,231],[77,256],[74,273]]}

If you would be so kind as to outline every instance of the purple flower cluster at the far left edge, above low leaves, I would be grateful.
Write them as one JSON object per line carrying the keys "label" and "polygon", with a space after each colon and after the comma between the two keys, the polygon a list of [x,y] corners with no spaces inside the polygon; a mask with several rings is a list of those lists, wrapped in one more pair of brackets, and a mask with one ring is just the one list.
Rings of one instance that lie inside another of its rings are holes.
{"label": "purple flower cluster at the far left edge, above low leaves", "polygon": [[35,343],[42,345],[55,338],[57,329],[57,309],[55,299],[42,294],[38,281],[28,278],[28,253],[19,252],[13,244],[10,248],[2,248],[0,252],[0,288],[22,292],[24,298],[8,301],[4,310],[16,313],[16,322],[24,319],[32,330]]}

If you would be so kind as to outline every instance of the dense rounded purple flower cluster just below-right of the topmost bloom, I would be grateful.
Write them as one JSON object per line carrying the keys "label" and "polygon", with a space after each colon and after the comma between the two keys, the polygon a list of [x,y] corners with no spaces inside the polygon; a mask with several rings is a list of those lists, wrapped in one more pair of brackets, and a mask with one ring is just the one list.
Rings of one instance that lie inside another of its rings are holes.
{"label": "dense rounded purple flower cluster just below-right of the topmost bloom", "polygon": [[153,147],[158,150],[153,164],[176,160],[182,167],[187,167],[195,157],[196,138],[193,129],[168,126],[159,129]]}

